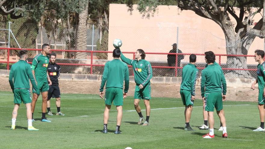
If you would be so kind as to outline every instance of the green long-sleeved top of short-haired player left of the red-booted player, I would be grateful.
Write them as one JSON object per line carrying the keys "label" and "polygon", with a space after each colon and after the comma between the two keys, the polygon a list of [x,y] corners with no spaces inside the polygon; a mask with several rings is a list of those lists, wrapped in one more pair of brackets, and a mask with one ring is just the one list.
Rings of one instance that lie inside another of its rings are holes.
{"label": "green long-sleeved top of short-haired player left of the red-booted player", "polygon": [[195,96],[195,85],[199,70],[194,64],[187,64],[182,69],[182,82],[180,89],[191,91],[192,96]]}

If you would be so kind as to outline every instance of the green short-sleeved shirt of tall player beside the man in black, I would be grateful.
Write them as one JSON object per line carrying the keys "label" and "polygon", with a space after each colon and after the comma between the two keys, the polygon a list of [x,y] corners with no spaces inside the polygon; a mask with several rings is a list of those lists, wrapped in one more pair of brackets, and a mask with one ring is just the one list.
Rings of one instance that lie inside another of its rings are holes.
{"label": "green short-sleeved shirt of tall player beside the man in black", "polygon": [[35,66],[35,78],[36,80],[47,81],[47,68],[49,64],[49,56],[44,56],[42,53],[36,55],[32,61],[32,65]]}

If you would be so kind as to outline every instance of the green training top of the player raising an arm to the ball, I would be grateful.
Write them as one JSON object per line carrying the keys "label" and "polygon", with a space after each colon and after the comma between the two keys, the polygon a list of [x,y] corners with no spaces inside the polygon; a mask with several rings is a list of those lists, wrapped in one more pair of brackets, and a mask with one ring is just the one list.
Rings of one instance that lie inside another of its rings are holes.
{"label": "green training top of the player raising an arm to the ball", "polygon": [[134,81],[136,85],[142,84],[143,86],[150,84],[150,80],[153,76],[151,64],[146,60],[131,60],[126,58],[122,52],[120,52],[120,59],[133,66]]}

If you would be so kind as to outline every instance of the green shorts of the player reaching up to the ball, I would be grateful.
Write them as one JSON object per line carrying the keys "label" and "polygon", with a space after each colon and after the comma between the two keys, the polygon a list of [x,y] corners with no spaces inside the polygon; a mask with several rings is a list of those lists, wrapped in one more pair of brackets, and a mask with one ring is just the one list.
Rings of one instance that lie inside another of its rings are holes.
{"label": "green shorts of the player reaching up to the ball", "polygon": [[147,84],[142,89],[139,88],[139,85],[136,85],[134,91],[134,99],[151,99],[151,85]]}

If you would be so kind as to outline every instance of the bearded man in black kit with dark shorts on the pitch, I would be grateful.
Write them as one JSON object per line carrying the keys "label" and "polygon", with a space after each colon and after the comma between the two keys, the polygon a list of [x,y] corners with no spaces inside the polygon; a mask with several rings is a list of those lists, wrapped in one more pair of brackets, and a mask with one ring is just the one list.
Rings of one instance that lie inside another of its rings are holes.
{"label": "bearded man in black kit with dark shorts on the pitch", "polygon": [[61,94],[60,94],[60,88],[59,88],[59,82],[58,77],[60,76],[61,68],[58,64],[55,63],[56,60],[56,54],[51,53],[50,54],[50,63],[48,64],[48,74],[51,79],[51,85],[49,86],[48,91],[48,101],[47,101],[47,109],[48,109],[48,115],[53,115],[51,112],[51,98],[55,98],[55,104],[57,107],[57,113],[56,115],[62,115],[64,114],[61,112]]}

